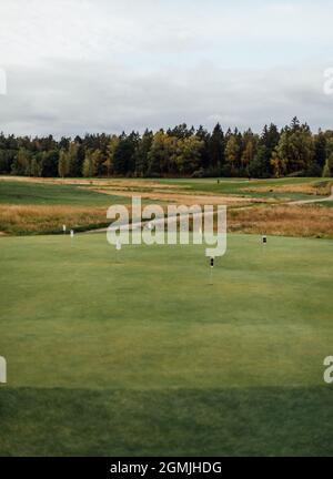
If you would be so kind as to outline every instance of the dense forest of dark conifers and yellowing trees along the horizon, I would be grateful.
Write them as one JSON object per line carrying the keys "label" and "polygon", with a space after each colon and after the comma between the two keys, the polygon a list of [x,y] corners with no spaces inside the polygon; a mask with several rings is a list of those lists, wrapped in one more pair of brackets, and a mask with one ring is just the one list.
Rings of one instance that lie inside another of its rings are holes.
{"label": "dense forest of dark conifers and yellowing trees along the horizon", "polygon": [[186,124],[142,135],[84,137],[0,134],[0,174],[27,176],[333,176],[333,131],[313,134],[294,118],[261,134],[238,129],[212,132]]}

